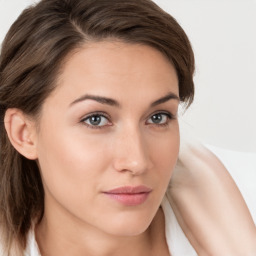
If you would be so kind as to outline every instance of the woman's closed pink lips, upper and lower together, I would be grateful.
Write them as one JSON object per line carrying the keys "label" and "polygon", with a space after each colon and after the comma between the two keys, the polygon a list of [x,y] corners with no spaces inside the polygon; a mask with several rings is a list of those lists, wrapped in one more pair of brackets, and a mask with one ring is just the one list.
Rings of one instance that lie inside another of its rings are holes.
{"label": "woman's closed pink lips, upper and lower together", "polygon": [[109,198],[125,206],[136,206],[143,204],[151,192],[152,189],[146,186],[125,186],[115,188],[103,193]]}

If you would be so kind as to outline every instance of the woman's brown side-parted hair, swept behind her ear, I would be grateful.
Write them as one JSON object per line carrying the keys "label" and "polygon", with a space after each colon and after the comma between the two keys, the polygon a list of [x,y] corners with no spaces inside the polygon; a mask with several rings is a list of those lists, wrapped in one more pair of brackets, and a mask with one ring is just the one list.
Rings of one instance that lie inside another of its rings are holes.
{"label": "woman's brown side-parted hair, swept behind her ear", "polygon": [[[10,28],[0,56],[0,225],[7,252],[24,249],[32,221],[44,212],[38,165],[20,155],[4,129],[8,108],[40,114],[67,55],[108,39],[154,47],[174,65],[179,96],[193,100],[194,55],[176,20],[150,0],[42,0]],[[9,253],[8,253],[9,255]]]}

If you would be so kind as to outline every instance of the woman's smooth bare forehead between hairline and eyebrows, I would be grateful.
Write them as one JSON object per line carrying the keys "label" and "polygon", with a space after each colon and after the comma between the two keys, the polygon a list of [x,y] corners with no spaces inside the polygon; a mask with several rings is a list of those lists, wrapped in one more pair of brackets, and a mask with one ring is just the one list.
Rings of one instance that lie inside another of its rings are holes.
{"label": "woman's smooth bare forehead between hairline and eyebrows", "polygon": [[74,100],[97,94],[122,100],[136,94],[178,96],[178,78],[170,61],[158,50],[123,42],[87,43],[66,59],[52,96]]}

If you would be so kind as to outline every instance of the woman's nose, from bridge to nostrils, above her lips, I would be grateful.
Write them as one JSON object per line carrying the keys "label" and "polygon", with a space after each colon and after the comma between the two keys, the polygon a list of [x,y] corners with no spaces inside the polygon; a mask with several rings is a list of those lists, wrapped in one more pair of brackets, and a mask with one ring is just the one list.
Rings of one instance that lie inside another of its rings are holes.
{"label": "woman's nose, from bridge to nostrils, above her lips", "polygon": [[116,171],[141,175],[152,168],[146,138],[139,128],[121,131],[114,144],[113,167]]}

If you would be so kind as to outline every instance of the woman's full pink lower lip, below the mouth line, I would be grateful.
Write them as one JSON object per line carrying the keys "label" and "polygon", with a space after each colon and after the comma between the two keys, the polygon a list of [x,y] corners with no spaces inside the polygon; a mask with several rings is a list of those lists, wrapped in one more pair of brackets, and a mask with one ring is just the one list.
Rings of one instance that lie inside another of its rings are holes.
{"label": "woman's full pink lower lip, below the mouth line", "polygon": [[105,193],[105,195],[109,196],[110,198],[126,206],[136,206],[136,205],[143,204],[147,200],[149,194],[150,192],[138,193],[138,194]]}

